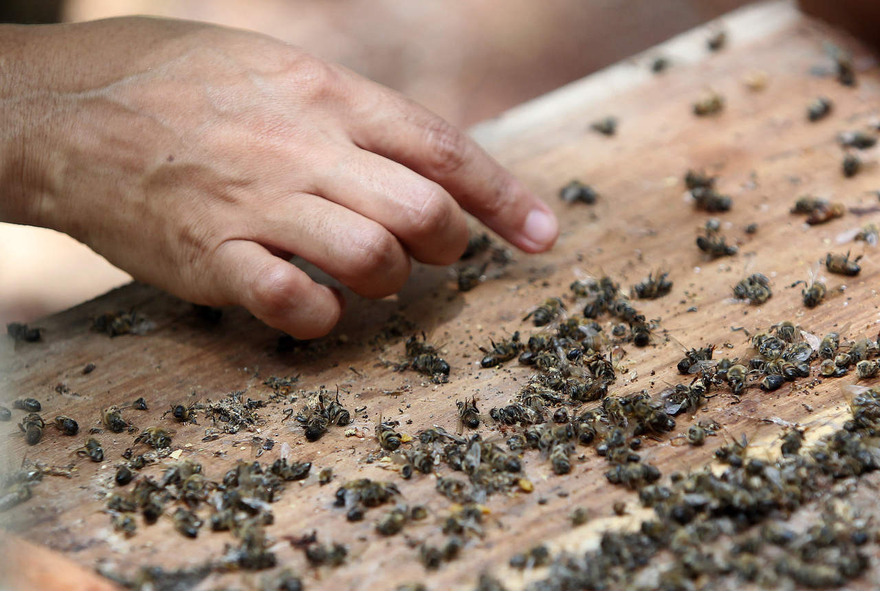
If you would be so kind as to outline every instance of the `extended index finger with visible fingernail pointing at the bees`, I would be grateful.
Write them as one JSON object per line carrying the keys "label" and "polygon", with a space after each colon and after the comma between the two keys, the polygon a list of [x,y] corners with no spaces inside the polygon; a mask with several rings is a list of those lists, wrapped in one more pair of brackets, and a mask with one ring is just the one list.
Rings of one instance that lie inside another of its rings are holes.
{"label": "extended index finger with visible fingernail pointing at the bees", "polygon": [[369,110],[348,123],[364,150],[436,181],[489,228],[526,252],[550,248],[559,234],[553,212],[471,138],[397,93],[378,87]]}

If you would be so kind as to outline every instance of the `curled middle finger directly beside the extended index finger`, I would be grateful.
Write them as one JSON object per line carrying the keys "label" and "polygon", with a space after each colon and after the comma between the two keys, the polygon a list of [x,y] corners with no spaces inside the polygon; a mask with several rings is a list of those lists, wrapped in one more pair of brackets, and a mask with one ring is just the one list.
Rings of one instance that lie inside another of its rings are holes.
{"label": "curled middle finger directly beside the extended index finger", "polygon": [[366,150],[346,150],[317,181],[327,199],[389,230],[415,259],[449,265],[465,252],[467,223],[442,186]]}

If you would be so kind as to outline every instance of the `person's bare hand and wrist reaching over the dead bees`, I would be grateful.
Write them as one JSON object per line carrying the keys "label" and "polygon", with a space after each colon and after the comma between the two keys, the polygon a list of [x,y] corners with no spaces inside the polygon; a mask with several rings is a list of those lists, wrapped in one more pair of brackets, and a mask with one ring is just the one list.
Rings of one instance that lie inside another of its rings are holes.
{"label": "person's bare hand and wrist reaching over the dead bees", "polygon": [[187,21],[0,26],[0,220],[60,230],[194,303],[300,339],[338,290],[397,292],[464,251],[466,210],[525,252],[549,208],[466,135],[301,48]]}

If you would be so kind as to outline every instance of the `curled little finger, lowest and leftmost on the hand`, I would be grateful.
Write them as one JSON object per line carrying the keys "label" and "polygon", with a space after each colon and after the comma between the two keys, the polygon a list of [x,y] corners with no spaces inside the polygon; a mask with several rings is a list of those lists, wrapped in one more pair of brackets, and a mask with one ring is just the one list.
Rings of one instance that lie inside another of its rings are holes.
{"label": "curled little finger, lowest and leftmost on the hand", "polygon": [[344,302],[296,266],[250,240],[228,240],[214,253],[216,289],[269,326],[315,339],[336,325]]}

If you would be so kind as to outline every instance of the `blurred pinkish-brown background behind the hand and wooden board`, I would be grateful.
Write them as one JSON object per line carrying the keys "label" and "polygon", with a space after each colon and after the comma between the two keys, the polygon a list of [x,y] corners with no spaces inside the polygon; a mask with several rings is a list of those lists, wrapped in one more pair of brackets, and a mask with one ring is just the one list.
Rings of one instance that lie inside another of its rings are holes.
{"label": "blurred pinkish-brown background behind the hand and wooden board", "polygon": [[[253,29],[414,98],[460,127],[618,62],[745,0],[4,0],[0,22],[129,14]],[[0,322],[129,281],[84,244],[0,224]]]}

